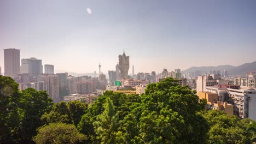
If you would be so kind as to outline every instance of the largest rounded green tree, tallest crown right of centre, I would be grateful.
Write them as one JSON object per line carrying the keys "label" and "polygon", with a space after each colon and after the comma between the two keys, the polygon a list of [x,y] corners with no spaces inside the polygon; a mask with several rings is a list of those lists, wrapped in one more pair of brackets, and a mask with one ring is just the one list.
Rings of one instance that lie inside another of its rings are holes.
{"label": "largest rounded green tree, tallest crown right of centre", "polygon": [[[208,124],[197,95],[170,77],[147,86],[141,96],[138,136],[140,143],[205,143]],[[130,116],[136,118],[136,113]],[[126,118],[125,118],[126,119]],[[135,133],[136,134],[136,133]]]}

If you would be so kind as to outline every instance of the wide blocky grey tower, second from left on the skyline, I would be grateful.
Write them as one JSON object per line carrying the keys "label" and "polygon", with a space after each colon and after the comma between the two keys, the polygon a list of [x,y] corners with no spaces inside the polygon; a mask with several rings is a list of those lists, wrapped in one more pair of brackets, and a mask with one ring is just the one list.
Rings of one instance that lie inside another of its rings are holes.
{"label": "wide blocky grey tower, second from left on the skyline", "polygon": [[38,76],[42,74],[42,60],[34,57],[21,59],[21,74]]}

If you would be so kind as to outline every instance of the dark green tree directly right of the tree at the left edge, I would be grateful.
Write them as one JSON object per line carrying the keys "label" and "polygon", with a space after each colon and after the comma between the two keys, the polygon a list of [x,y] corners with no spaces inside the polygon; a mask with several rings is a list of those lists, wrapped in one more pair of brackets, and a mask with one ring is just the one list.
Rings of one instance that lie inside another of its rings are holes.
{"label": "dark green tree directly right of the tree at the left edge", "polygon": [[46,91],[27,88],[22,91],[19,103],[21,109],[25,112],[19,137],[23,142],[28,142],[36,135],[36,129],[42,125],[40,117],[44,112],[50,110],[53,100],[49,98]]}

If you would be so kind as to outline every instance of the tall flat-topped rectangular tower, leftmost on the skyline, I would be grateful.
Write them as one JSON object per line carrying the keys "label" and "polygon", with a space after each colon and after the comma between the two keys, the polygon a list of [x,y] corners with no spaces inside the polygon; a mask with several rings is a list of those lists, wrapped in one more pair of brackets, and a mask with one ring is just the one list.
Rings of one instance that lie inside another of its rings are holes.
{"label": "tall flat-topped rectangular tower, leftmost on the skyline", "polygon": [[20,73],[20,50],[4,49],[4,75],[14,79]]}

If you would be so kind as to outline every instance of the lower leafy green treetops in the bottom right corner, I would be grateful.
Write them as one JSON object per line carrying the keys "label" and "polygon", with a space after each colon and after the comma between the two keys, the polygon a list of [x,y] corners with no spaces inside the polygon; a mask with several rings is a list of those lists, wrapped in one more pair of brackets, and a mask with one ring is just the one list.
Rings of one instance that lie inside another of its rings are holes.
{"label": "lower leafy green treetops in the bottom right corner", "polygon": [[204,111],[203,117],[210,125],[207,143],[252,143],[254,133],[248,130],[252,119],[239,119],[217,110]]}

